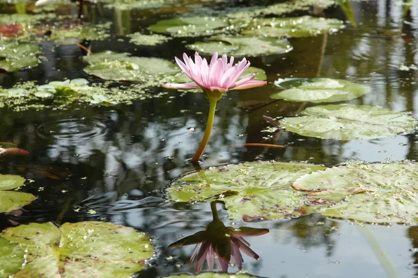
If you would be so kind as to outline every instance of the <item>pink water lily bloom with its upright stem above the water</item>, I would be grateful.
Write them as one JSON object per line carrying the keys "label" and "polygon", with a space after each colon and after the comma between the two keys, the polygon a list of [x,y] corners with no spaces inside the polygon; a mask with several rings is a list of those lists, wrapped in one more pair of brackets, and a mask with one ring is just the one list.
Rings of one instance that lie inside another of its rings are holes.
{"label": "pink water lily bloom with its upright stem above the water", "polygon": [[[240,79],[242,74],[249,68],[249,61],[242,58],[238,63],[233,65],[234,58],[231,56],[228,62],[226,54],[221,58],[218,57],[217,52],[213,54],[210,63],[206,58],[201,58],[196,51],[194,54],[194,61],[187,54],[183,54],[183,60],[175,57],[177,65],[189,77],[193,83],[168,83],[163,84],[164,88],[168,89],[197,89],[201,88],[209,100],[209,117],[206,125],[205,135],[203,136],[201,145],[194,154],[192,162],[199,162],[199,158],[208,144],[210,133],[212,131],[213,120],[215,118],[215,108],[217,101],[222,97],[222,94],[228,90],[244,90],[249,88],[256,88],[265,85],[266,81],[254,81],[256,74]],[[240,79],[240,80],[239,80]]]}

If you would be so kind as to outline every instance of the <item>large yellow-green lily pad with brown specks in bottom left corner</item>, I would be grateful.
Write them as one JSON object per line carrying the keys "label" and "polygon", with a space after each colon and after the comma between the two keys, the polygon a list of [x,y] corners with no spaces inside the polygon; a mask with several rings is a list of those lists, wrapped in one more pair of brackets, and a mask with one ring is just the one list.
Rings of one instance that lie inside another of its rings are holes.
{"label": "large yellow-green lily pad with brown specks in bottom left corner", "polygon": [[31,223],[6,229],[1,238],[26,250],[13,277],[128,277],[153,256],[144,233],[105,222]]}

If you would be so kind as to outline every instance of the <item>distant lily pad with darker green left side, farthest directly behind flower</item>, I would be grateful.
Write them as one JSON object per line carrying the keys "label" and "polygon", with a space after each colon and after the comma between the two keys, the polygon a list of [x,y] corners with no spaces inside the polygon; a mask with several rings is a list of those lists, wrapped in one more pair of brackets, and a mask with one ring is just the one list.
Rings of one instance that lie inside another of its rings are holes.
{"label": "distant lily pad with darker green left side, farthest directly behind flower", "polygon": [[222,29],[228,25],[228,19],[220,17],[178,17],[160,20],[148,29],[174,37],[200,37],[223,33]]}

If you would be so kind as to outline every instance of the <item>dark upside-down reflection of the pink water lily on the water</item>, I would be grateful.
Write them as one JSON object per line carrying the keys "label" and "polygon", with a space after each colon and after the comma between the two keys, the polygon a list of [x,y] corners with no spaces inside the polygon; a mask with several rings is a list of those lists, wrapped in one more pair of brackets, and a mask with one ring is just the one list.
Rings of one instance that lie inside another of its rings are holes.
{"label": "dark upside-down reflection of the pink water lily on the water", "polygon": [[171,248],[196,244],[190,258],[190,261],[195,261],[196,272],[201,272],[205,260],[208,261],[208,268],[212,271],[215,259],[217,259],[221,272],[228,272],[229,263],[241,269],[244,261],[241,252],[253,259],[259,258],[258,254],[251,250],[247,240],[242,237],[261,236],[269,232],[268,229],[225,227],[217,215],[216,204],[217,202],[210,204],[213,221],[206,226],[206,230],[198,231],[192,236],[187,236],[169,245]]}

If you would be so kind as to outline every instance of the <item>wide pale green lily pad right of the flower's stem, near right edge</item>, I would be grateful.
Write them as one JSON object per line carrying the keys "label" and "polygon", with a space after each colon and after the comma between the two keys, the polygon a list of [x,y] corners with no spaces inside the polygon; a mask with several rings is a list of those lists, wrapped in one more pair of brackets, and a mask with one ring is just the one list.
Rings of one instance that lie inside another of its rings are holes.
{"label": "wide pale green lily pad right of the flower's stem, near right edge", "polygon": [[336,140],[391,138],[417,128],[417,120],[408,113],[367,105],[314,106],[300,114],[285,117],[280,125],[302,136]]}

